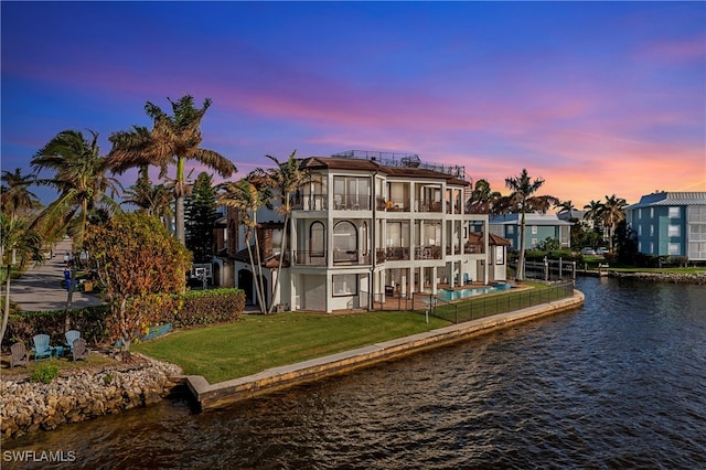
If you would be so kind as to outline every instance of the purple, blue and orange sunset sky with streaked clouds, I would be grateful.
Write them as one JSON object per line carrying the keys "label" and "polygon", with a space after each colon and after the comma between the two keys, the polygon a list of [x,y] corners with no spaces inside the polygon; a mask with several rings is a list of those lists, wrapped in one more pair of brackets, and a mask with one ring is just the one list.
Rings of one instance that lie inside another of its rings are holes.
{"label": "purple, blue and orange sunset sky with streaked clouds", "polygon": [[168,98],[192,95],[213,100],[202,147],[235,163],[233,179],[266,154],[374,150],[462,164],[503,194],[526,168],[539,194],[578,209],[706,191],[706,2],[0,9],[2,170],[29,173],[66,129],[97,131],[107,154],[110,133],[151,126],[147,102],[171,111]]}

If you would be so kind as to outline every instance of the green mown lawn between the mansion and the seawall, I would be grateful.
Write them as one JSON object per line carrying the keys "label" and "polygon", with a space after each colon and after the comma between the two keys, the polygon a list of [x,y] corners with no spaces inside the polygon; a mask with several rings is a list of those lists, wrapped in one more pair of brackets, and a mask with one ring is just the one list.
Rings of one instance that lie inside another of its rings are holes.
{"label": "green mown lawn between the mansion and the seawall", "polygon": [[216,383],[448,324],[436,318],[427,324],[424,316],[413,312],[282,312],[176,331],[131,350]]}

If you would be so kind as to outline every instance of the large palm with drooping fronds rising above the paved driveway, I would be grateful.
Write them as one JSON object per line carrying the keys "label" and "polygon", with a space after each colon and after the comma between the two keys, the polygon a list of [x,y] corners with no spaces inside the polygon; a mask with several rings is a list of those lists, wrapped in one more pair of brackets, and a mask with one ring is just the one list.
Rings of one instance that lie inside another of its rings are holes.
{"label": "large palm with drooping fronds rising above the paved driveway", "polygon": [[89,132],[90,140],[77,130],[58,132],[31,161],[38,172],[54,172],[53,178],[36,179],[35,184],[58,191],[58,199],[40,213],[33,226],[41,226],[42,234],[49,239],[67,231],[78,252],[89,217],[103,217],[106,210],[120,211],[107,192],[122,190],[118,180],[107,175],[108,159],[99,154],[98,133]]}

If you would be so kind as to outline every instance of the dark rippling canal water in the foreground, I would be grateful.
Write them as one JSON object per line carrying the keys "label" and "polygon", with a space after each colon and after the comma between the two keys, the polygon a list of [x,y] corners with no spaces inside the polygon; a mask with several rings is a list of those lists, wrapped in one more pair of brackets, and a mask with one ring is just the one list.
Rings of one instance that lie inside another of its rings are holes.
{"label": "dark rippling canal water in the foreground", "polygon": [[577,287],[578,310],[217,412],[6,441],[2,468],[705,468],[706,288]]}

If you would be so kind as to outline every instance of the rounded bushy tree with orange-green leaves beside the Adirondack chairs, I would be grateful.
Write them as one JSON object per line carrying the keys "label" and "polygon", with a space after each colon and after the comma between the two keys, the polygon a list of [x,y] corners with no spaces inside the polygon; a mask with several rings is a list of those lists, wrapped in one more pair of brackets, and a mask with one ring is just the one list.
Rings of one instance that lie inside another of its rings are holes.
{"label": "rounded bushy tree with orange-green leaves beside the Adirondack chairs", "polygon": [[129,300],[183,292],[191,254],[157,217],[137,212],[90,226],[85,247],[106,286],[111,334],[120,338],[121,352],[128,356],[132,338],[145,320],[143,310]]}

